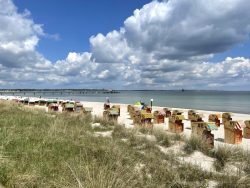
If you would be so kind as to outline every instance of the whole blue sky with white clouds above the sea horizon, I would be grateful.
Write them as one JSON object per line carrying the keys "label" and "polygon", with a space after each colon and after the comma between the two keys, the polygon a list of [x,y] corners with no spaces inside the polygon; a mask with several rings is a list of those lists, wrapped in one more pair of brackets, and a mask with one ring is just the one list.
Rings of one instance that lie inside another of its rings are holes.
{"label": "whole blue sky with white clouds above the sea horizon", "polygon": [[250,90],[249,0],[0,0],[0,88]]}

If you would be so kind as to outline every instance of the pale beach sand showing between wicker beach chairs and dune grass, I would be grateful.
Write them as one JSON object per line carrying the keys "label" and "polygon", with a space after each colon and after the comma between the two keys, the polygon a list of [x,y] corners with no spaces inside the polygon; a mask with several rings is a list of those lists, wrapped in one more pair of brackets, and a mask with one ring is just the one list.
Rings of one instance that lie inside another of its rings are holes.
{"label": "pale beach sand showing between wicker beach chairs and dune grass", "polygon": [[[9,98],[9,100],[10,100],[10,98]],[[97,117],[102,118],[103,111],[104,111],[104,103],[102,103],[102,102],[89,102],[89,101],[80,101],[80,103],[82,103],[84,107],[93,108],[93,111],[92,111],[93,116],[97,116]],[[120,116],[118,117],[118,123],[120,125],[123,125],[127,129],[133,129],[135,127],[135,125],[133,124],[133,120],[130,118],[129,113],[127,112],[128,104],[110,103],[110,106],[113,106],[113,105],[120,106]],[[34,109],[38,110],[39,109],[39,110],[42,110],[44,112],[48,112],[48,107],[46,107],[46,106],[24,105],[24,107],[29,108],[30,110],[34,110]],[[162,108],[166,108],[166,107],[153,106],[152,112],[154,112],[156,110],[161,110]],[[190,109],[171,108],[171,111],[172,110],[179,110],[179,111],[183,112],[183,115],[185,117],[185,120],[183,120],[184,132],[181,133],[181,135],[184,135],[186,138],[189,138],[191,136],[191,122],[190,122],[190,120],[188,120],[188,110],[190,110]],[[195,109],[193,109],[193,110],[195,110]],[[218,111],[206,111],[206,110],[195,110],[195,111],[199,114],[202,114],[204,122],[208,122],[209,114],[222,114],[223,113],[223,112],[218,112]],[[58,113],[61,113],[61,112],[62,112],[62,107],[59,106]],[[232,113],[231,115],[232,115],[233,120],[237,120],[237,121],[250,120],[249,114]],[[220,120],[222,121],[221,118],[220,118]],[[162,124],[154,124],[153,129],[157,130],[157,131],[164,132],[166,134],[173,135],[174,133],[171,133],[170,131],[168,131],[169,118],[165,118],[164,122],[165,123],[162,123]],[[92,124],[92,126],[101,126],[101,125],[99,123],[99,125]],[[94,136],[95,137],[112,138],[112,132],[113,132],[113,130],[97,131],[94,133]],[[214,147],[216,150],[218,150],[218,147],[220,147],[220,146],[227,146],[227,148],[229,148],[229,149],[231,149],[231,147],[232,148],[239,147],[239,148],[244,149],[245,151],[250,150],[250,139],[242,138],[242,143],[235,144],[235,145],[224,143],[224,125],[223,124],[220,125],[218,130],[213,130],[212,134],[214,134]],[[137,134],[137,137],[143,137],[149,141],[156,142],[156,137],[154,134],[149,135],[149,134],[139,132]],[[126,139],[125,139],[125,142],[126,142]],[[180,142],[176,142],[175,144],[173,144],[170,147],[164,147],[164,146],[161,146],[159,144],[157,144],[156,147],[158,147],[158,149],[159,149],[159,151],[161,151],[161,153],[164,153],[166,155],[168,155],[169,153],[173,153],[174,155],[177,156],[177,159],[179,160],[180,163],[183,163],[183,164],[189,163],[189,164],[198,166],[199,168],[203,169],[204,171],[218,173],[216,171],[216,169],[214,168],[214,163],[216,161],[214,158],[212,158],[211,156],[205,155],[201,151],[195,151],[191,155],[185,155],[183,152],[184,145],[185,145],[185,143],[183,141],[180,141]],[[225,167],[225,169],[234,173],[234,174],[238,173],[237,164],[230,163]],[[225,172],[226,172],[226,170],[225,170]],[[211,187],[213,187],[213,186],[211,186]]]}

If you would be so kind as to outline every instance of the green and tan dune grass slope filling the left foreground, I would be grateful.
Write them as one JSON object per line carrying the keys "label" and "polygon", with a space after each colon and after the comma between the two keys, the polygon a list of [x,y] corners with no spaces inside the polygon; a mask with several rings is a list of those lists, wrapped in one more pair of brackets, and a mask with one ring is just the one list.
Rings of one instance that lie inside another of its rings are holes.
{"label": "green and tan dune grass slope filling the left foreground", "polygon": [[[112,137],[97,137],[92,123]],[[138,130],[91,116],[49,114],[0,101],[0,184],[4,187],[207,187],[223,181],[183,164],[169,147],[180,136]],[[197,148],[196,148],[197,149]],[[225,176],[223,180],[228,178]],[[238,179],[237,179],[238,181]]]}

